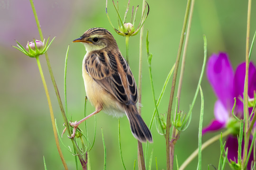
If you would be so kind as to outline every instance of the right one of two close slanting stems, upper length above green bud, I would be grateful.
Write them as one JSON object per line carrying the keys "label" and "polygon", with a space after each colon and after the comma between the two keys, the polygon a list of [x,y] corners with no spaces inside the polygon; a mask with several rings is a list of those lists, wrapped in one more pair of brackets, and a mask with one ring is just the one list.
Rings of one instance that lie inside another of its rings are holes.
{"label": "right one of two close slanting stems, upper length above green bud", "polygon": [[191,23],[192,23],[192,16],[193,16],[193,9],[194,9],[195,0],[191,1],[191,10],[189,13],[189,20],[188,20],[188,29],[186,31],[186,39],[184,42],[184,50],[182,55],[182,65],[181,65],[181,73],[179,78],[179,84],[178,84],[178,91],[177,91],[177,99],[178,99],[178,107],[177,110],[180,108],[180,99],[181,99],[181,89],[182,89],[182,81],[183,81],[183,74],[185,70],[185,61],[186,61],[186,54],[187,54],[187,48],[188,48],[188,42],[189,42],[189,35],[191,30]]}

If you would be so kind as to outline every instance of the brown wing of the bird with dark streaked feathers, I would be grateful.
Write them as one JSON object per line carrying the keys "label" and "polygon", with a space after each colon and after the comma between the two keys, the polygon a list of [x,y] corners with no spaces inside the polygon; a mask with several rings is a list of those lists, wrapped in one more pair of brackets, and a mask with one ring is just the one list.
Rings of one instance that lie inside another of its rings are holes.
{"label": "brown wing of the bird with dark streaked feathers", "polygon": [[126,105],[137,102],[135,79],[119,51],[91,52],[85,60],[85,69],[93,80],[115,96],[119,102]]}

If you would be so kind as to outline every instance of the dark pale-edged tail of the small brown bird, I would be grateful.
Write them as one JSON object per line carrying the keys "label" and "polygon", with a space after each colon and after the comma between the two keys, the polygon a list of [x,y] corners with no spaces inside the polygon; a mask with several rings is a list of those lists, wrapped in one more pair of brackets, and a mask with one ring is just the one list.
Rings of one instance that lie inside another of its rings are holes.
{"label": "dark pale-edged tail of the small brown bird", "polygon": [[140,142],[146,142],[148,140],[148,142],[152,143],[153,138],[151,132],[139,115],[136,105],[126,105],[125,107],[125,113],[130,122],[133,136]]}

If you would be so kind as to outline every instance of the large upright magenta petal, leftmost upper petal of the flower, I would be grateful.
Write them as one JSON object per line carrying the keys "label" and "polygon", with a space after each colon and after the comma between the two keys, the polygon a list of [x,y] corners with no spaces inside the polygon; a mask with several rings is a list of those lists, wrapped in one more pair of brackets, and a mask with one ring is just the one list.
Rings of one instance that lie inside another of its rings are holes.
{"label": "large upright magenta petal, leftmost upper petal of the flower", "polygon": [[226,53],[213,54],[207,63],[207,77],[210,84],[225,108],[233,107],[234,73]]}

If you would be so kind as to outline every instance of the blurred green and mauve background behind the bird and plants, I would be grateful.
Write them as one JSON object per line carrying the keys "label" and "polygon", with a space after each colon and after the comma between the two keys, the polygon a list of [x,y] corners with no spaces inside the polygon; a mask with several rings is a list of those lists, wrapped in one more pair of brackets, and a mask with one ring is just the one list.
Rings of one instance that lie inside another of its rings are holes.
{"label": "blurred green and mauve background behind the bird and plants", "polygon": [[[116,2],[116,1],[115,1]],[[179,46],[180,34],[183,26],[186,0],[147,0],[150,6],[149,16],[145,23],[149,30],[150,52],[153,53],[152,72],[155,94],[158,98],[163,83],[173,66]],[[64,59],[67,46],[70,44],[67,67],[67,101],[68,112],[73,120],[83,118],[84,85],[82,80],[82,59],[85,49],[80,43],[72,41],[80,37],[91,27],[104,27],[114,35],[119,48],[125,54],[125,38],[116,34],[108,22],[105,13],[105,0],[34,0],[37,15],[45,38],[56,36],[48,55],[51,61],[55,79],[64,102]],[[119,1],[119,10],[123,17],[127,0]],[[137,6],[137,22],[140,20],[142,0],[131,0],[131,7]],[[108,12],[114,26],[117,27],[116,12],[112,2],[108,2]],[[256,30],[256,4],[252,4],[251,38]],[[208,41],[208,57],[212,53],[227,51],[235,69],[238,63],[245,59],[247,23],[247,1],[242,0],[196,0],[192,19],[192,28],[187,50],[186,68],[184,72],[180,109],[187,112],[192,102],[203,59],[203,38]],[[33,38],[39,39],[36,22],[29,0],[1,0],[0,1],[0,169],[1,170],[43,170],[43,155],[48,170],[63,169],[59,158],[51,120],[46,101],[45,91],[37,68],[36,59],[29,58],[11,47],[15,40],[23,46]],[[130,68],[138,81],[139,34],[130,38],[129,54]],[[148,76],[146,43],[143,48],[143,82],[142,82],[142,117],[149,125],[154,102]],[[252,60],[255,59],[255,50]],[[45,57],[40,57],[46,76],[51,101],[53,103],[58,128],[63,129],[63,119],[55,97],[55,92],[46,66]],[[203,126],[208,125],[213,116],[216,96],[213,93],[207,77],[201,83],[205,112]],[[171,90],[171,81],[160,104],[159,111],[165,114]],[[176,95],[176,94],[175,94]],[[183,132],[175,147],[175,155],[179,165],[197,148],[198,123],[200,103],[198,97],[192,112],[192,122]],[[91,113],[94,107],[88,104],[87,111]],[[120,119],[121,141],[124,162],[128,170],[133,169],[137,159],[137,140],[132,136],[126,118]],[[83,126],[82,126],[83,127]],[[91,150],[91,169],[103,169],[103,145],[101,139],[103,129],[107,146],[107,169],[121,170],[122,164],[118,146],[118,119],[103,112],[97,115],[96,142]],[[94,119],[88,120],[89,137],[92,141]],[[153,126],[154,143],[149,145],[149,153],[153,150],[152,170],[155,170],[155,157],[158,170],[166,169],[165,140]],[[215,133],[216,134],[216,133]],[[213,134],[203,136],[206,141]],[[64,135],[64,143],[71,146],[71,142]],[[144,144],[144,146],[146,146]],[[70,168],[75,169],[74,157],[61,145],[64,158]],[[220,154],[219,142],[212,144],[202,152],[202,168],[208,164],[218,167]],[[148,155],[149,156],[149,155]],[[148,162],[148,161],[147,161]],[[197,159],[187,167],[196,169]],[[81,167],[79,167],[82,169]],[[137,169],[137,168],[136,168]],[[211,168],[213,169],[213,168]]]}

